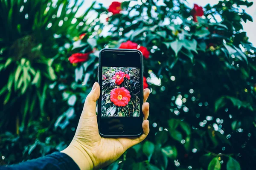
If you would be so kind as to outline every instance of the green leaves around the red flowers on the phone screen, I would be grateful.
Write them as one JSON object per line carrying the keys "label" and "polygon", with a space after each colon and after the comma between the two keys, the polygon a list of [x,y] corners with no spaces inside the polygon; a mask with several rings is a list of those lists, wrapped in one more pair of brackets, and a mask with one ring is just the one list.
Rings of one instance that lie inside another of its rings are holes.
{"label": "green leaves around the red flowers on the phone screen", "polygon": [[[124,78],[121,85],[116,85],[112,79],[116,72],[129,74],[130,79]],[[140,116],[140,71],[138,68],[102,67],[102,116]],[[118,107],[110,100],[110,93],[114,88],[124,87],[130,92],[131,99],[125,107]]]}

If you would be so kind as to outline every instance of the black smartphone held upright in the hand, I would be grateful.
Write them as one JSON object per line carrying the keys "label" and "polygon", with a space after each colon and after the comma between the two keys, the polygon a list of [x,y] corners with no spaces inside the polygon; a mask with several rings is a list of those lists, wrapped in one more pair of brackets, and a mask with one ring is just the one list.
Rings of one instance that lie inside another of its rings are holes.
{"label": "black smartphone held upright in the hand", "polygon": [[99,134],[104,137],[143,133],[143,54],[139,50],[102,49],[99,54]]}

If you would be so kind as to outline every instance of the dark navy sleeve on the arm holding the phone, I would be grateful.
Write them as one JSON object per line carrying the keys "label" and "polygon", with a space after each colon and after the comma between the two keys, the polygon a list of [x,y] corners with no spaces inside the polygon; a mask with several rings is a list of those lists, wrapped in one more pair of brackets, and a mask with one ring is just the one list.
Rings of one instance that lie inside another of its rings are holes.
{"label": "dark navy sleeve on the arm holding the phone", "polygon": [[0,170],[79,170],[79,167],[67,154],[54,152],[19,164],[0,166]]}

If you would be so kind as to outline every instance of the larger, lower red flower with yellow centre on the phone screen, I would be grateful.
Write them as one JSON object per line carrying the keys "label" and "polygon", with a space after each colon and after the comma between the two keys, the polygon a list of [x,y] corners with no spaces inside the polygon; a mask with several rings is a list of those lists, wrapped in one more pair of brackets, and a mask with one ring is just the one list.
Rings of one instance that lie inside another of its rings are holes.
{"label": "larger, lower red flower with yellow centre on the phone screen", "polygon": [[130,91],[128,91],[126,88],[114,88],[110,92],[110,101],[114,103],[114,105],[120,107],[120,106],[126,106],[128,105],[128,102],[131,99]]}

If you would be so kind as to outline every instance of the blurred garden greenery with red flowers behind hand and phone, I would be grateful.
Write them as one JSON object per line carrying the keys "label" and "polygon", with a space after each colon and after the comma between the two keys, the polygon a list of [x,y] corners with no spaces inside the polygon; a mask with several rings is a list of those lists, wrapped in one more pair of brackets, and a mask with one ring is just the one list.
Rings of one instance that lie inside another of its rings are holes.
{"label": "blurred garden greenery with red flowers behind hand and phone", "polygon": [[61,151],[99,51],[144,56],[150,134],[108,170],[254,170],[251,0],[0,0],[0,164]]}

